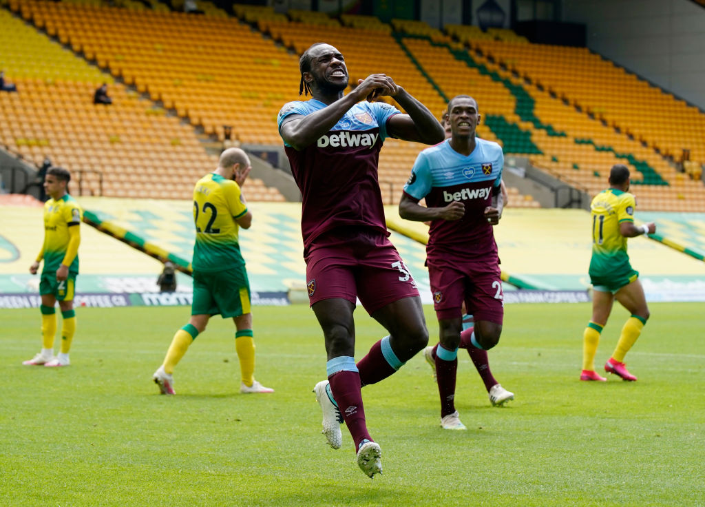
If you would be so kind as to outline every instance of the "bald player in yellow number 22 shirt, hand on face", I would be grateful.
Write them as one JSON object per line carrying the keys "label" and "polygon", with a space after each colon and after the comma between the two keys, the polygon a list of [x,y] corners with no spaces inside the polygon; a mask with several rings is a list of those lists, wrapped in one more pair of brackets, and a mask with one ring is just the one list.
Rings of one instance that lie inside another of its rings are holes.
{"label": "bald player in yellow number 22 shirt, hand on face", "polygon": [[173,369],[209,319],[220,314],[235,323],[235,351],[240,360],[240,393],[272,393],[255,380],[250,281],[240,253],[239,230],[250,228],[252,213],[242,194],[250,158],[240,148],[221,153],[218,167],[193,189],[193,300],[188,324],[176,331],[162,365],[152,378],[162,394],[176,394]]}

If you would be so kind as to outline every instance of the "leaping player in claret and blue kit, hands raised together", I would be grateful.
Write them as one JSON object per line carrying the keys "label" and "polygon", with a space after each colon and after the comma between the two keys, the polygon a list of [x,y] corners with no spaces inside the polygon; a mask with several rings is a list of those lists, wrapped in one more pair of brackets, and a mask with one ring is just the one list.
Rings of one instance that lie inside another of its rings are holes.
{"label": "leaping player in claret and blue kit, hands raised together", "polygon": [[[382,470],[381,448],[367,431],[360,388],[390,376],[428,343],[416,283],[388,240],[377,181],[379,150],[388,135],[433,145],[443,140],[443,129],[388,75],[369,75],[343,95],[348,69],[329,44],[309,47],[300,71],[300,93],[313,98],[283,106],[278,124],[302,193],[309,302],[328,355],[328,380],[314,391],[328,443],[341,446],[344,420],[357,465],[374,477]],[[370,102],[380,95],[394,97],[407,114]],[[389,335],[355,364],[357,298]]]}

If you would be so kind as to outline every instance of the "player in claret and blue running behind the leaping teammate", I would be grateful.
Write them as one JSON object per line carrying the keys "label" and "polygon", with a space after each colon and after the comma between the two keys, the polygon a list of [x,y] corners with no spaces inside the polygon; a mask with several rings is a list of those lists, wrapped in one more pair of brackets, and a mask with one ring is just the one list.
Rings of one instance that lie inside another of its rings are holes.
{"label": "player in claret and blue running behind the leaping teammate", "polygon": [[[436,370],[443,429],[465,429],[454,403],[461,344],[468,349],[486,386],[492,384],[488,387],[490,399],[492,389],[501,403],[513,399],[489,373],[486,355],[499,341],[504,316],[493,231],[503,208],[504,155],[496,142],[475,137],[479,119],[472,97],[458,95],[450,100],[451,137],[419,154],[399,203],[403,219],[431,220],[427,265],[440,343],[429,350],[427,360],[433,360]],[[424,197],[427,207],[419,204]],[[474,326],[465,331],[463,303],[474,316]],[[479,355],[484,368],[479,367]]]}

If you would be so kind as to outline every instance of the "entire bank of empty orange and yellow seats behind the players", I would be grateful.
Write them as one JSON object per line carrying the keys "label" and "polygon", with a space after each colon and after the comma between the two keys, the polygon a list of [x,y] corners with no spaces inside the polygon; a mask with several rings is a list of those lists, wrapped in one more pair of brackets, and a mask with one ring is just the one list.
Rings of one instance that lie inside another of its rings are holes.
{"label": "entire bank of empty orange and yellow seats behind the players", "polygon": [[[300,99],[298,55],[325,41],[345,55],[351,84],[386,73],[437,116],[450,97],[472,95],[483,116],[479,136],[591,195],[606,187],[613,164],[624,163],[632,170],[640,208],[705,211],[705,190],[696,179],[705,161],[705,115],[585,49],[531,44],[505,29],[448,25],[441,32],[418,21],[388,25],[372,16],[331,18],[300,10],[285,16],[265,6],[236,4],[238,18],[228,18],[207,3],[200,3],[205,16],[190,16],[156,8],[157,0],[149,1],[152,9],[134,0],[124,0],[123,8],[96,0],[3,1],[136,88],[133,93],[111,83],[114,106],[88,106],[78,97],[90,97],[109,76],[8,18],[22,37],[53,45],[61,57],[35,59],[51,53],[39,49],[39,42],[22,44],[25,53],[8,57],[8,78],[27,92],[0,94],[0,107],[11,113],[0,135],[27,157],[39,160],[50,153],[70,168],[85,169],[89,188],[100,179],[91,171],[101,171],[106,195],[173,197],[177,190],[155,190],[159,181],[148,174],[164,161],[172,168],[171,184],[188,189],[192,175],[214,165],[193,127],[222,140],[223,127],[232,126],[240,142],[281,146],[276,115],[283,104]],[[0,41],[3,36],[0,32]],[[662,122],[667,110],[672,117]],[[56,128],[39,125],[35,118],[42,115],[63,121],[54,122]],[[424,145],[391,138],[385,144],[379,181],[385,201],[398,202]],[[663,157],[682,148],[690,150],[686,173]],[[116,171],[123,177],[116,178]],[[261,182],[248,186],[250,200],[281,198]],[[537,204],[510,189],[511,206]]]}

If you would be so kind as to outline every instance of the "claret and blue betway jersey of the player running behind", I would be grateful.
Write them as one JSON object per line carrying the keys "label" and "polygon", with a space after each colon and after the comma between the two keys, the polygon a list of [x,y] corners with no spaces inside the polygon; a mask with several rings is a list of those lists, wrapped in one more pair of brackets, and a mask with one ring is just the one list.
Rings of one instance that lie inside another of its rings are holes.
{"label": "claret and blue betway jersey of the player running behind", "polygon": [[[449,140],[424,149],[404,186],[404,192],[414,200],[425,197],[428,207],[445,207],[453,201],[465,204],[462,219],[431,223],[431,247],[457,245],[458,241],[494,245],[492,226],[484,217],[484,209],[491,206],[492,196],[500,190],[504,155],[496,142],[476,138],[476,143],[467,157],[450,147]],[[473,251],[477,252],[477,248]]]}

